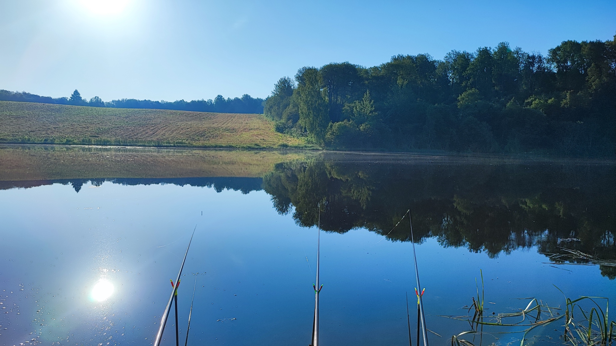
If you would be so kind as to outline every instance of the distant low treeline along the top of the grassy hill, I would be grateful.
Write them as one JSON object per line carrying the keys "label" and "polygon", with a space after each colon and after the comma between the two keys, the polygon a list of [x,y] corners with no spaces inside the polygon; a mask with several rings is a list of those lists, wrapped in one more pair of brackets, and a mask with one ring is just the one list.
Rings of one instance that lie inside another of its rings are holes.
{"label": "distant low treeline along the top of the grassy hill", "polygon": [[214,100],[196,100],[184,101],[178,100],[174,102],[168,101],[150,101],[150,100],[135,100],[132,98],[123,98],[121,100],[113,100],[104,102],[99,96],[94,96],[90,101],[84,100],[78,90],[73,92],[73,95],[68,97],[52,98],[49,96],[39,96],[26,92],[9,92],[0,90],[0,101],[18,101],[18,102],[35,102],[35,103],[52,103],[52,104],[72,104],[73,106],[92,106],[92,107],[110,107],[110,108],[144,108],[144,109],[174,109],[176,111],[193,111],[193,112],[219,112],[219,113],[256,113],[263,112],[263,99],[252,98],[245,94],[241,98],[224,98],[222,95],[216,96]]}

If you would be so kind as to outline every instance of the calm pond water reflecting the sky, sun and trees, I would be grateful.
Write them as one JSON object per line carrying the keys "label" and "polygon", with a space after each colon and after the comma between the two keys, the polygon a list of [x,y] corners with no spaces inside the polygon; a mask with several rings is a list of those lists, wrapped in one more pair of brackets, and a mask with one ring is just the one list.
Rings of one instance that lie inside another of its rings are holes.
{"label": "calm pond water reflecting the sky, sun and trees", "polygon": [[[193,230],[180,342],[194,288],[188,344],[309,345],[319,217],[322,345],[407,345],[407,293],[415,345],[407,210],[429,341],[450,345],[469,323],[444,316],[477,290],[486,321],[515,298],[615,297],[615,178],[611,161],[0,147],[0,345],[152,344]],[[549,257],[567,249],[593,257]],[[466,339],[522,337],[491,335]]]}

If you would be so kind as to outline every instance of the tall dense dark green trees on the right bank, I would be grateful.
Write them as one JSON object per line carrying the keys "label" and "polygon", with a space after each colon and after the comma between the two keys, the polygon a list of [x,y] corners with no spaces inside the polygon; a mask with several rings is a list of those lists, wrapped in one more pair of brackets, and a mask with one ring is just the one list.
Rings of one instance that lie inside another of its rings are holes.
{"label": "tall dense dark green trees on the right bank", "polygon": [[564,41],[548,55],[453,50],[379,66],[330,63],[283,77],[265,100],[276,130],[332,149],[612,156],[614,41]]}

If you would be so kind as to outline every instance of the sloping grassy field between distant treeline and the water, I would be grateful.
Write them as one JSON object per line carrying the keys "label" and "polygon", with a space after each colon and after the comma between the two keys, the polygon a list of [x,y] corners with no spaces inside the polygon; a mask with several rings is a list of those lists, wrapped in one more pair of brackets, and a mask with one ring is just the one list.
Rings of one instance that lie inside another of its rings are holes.
{"label": "sloping grassy field between distant treeline and the water", "polygon": [[306,147],[261,114],[97,108],[0,101],[0,143]]}

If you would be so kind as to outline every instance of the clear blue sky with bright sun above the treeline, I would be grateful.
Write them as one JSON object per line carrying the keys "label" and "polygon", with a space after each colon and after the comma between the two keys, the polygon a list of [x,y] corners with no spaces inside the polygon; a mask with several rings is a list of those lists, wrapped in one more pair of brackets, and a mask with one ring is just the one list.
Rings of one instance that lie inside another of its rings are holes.
{"label": "clear blue sky with bright sun above the treeline", "polygon": [[508,41],[612,39],[616,1],[0,0],[0,88],[197,100],[269,95],[302,66]]}

